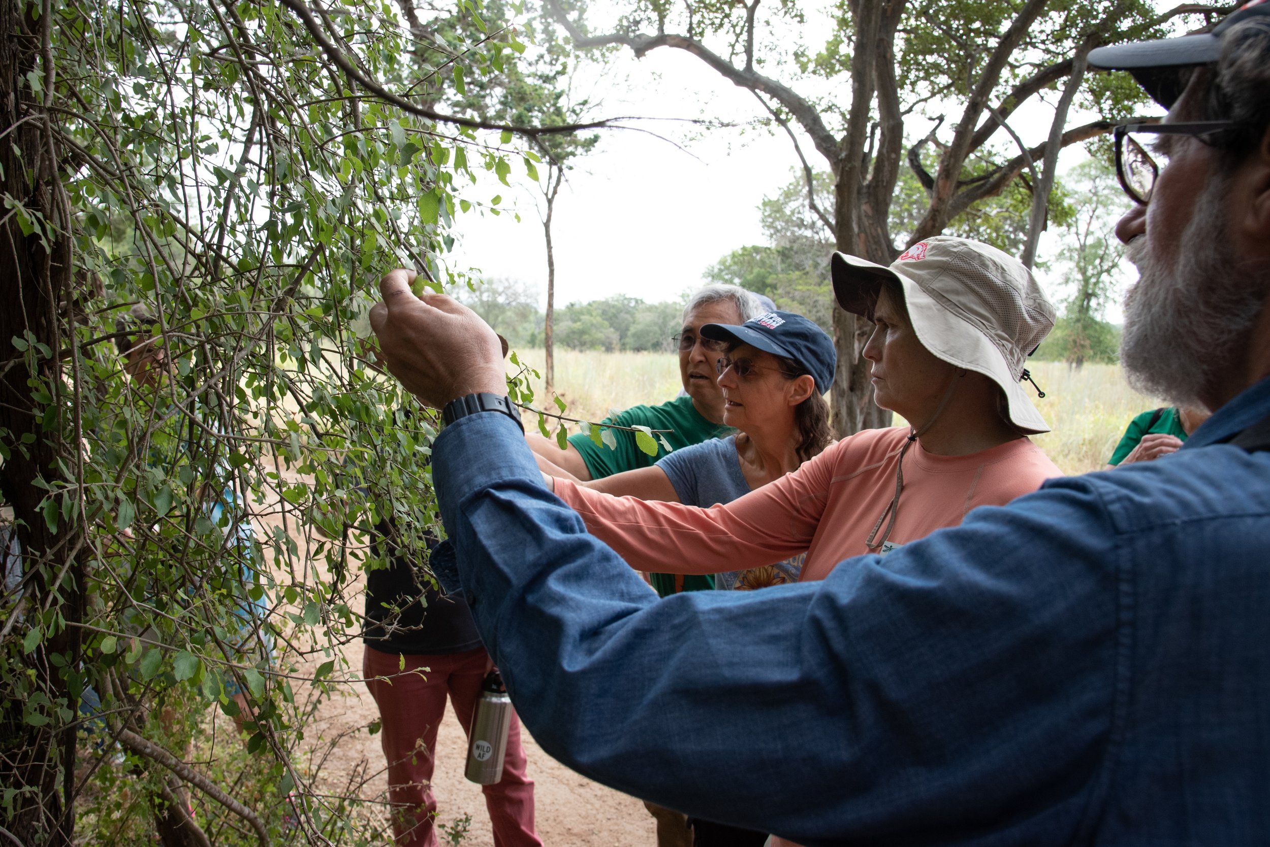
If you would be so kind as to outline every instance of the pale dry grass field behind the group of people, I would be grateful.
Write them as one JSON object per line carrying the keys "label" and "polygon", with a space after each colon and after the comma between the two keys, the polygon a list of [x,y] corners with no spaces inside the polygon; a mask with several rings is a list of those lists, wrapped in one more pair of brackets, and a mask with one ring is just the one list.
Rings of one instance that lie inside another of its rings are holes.
{"label": "pale dry grass field behind the group of people", "polygon": [[[541,350],[518,351],[521,360],[542,368]],[[1034,440],[1071,474],[1101,468],[1124,427],[1138,412],[1160,406],[1125,382],[1119,365],[1086,365],[1080,370],[1060,361],[1030,363],[1034,379],[1045,392],[1036,406],[1052,432]],[[1025,388],[1030,391],[1030,387]],[[556,389],[569,404],[570,417],[597,421],[610,408],[664,402],[679,391],[678,361],[662,352],[556,352]],[[535,391],[540,403],[542,382]]]}

